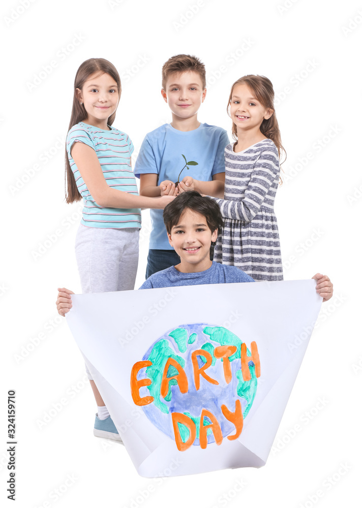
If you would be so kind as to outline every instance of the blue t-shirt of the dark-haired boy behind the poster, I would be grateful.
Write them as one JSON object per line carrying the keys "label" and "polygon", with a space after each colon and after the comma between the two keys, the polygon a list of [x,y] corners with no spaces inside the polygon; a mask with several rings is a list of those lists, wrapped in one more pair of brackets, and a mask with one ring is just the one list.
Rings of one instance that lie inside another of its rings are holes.
{"label": "blue t-shirt of the dark-haired boy behind the poster", "polygon": [[174,266],[154,273],[143,282],[139,289],[171,288],[172,286],[223,284],[227,282],[254,282],[249,275],[236,266],[213,264],[207,270],[196,273],[182,273]]}

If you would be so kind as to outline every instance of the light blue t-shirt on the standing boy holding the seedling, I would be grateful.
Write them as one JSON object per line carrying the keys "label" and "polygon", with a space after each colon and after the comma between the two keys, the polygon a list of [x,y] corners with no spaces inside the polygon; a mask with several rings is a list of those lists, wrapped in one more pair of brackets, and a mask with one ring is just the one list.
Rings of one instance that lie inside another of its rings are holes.
{"label": "light blue t-shirt on the standing boy holding the seedling", "polygon": [[[157,185],[163,180],[176,182],[186,161],[197,162],[197,166],[188,166],[180,175],[192,176],[204,182],[213,179],[218,173],[225,173],[225,146],[229,138],[225,129],[216,125],[201,123],[193,131],[178,131],[169,123],[161,125],[155,131],[146,134],[135,164],[134,174],[157,174]],[[150,210],[152,231],[149,238],[150,249],[168,249],[173,247],[168,242],[163,222],[163,210]]]}

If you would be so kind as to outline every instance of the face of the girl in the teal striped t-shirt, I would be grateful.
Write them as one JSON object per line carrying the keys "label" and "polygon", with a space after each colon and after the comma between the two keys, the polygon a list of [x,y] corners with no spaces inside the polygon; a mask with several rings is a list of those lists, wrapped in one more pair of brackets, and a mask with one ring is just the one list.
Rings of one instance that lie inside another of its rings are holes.
{"label": "face of the girl in the teal striped t-shirt", "polygon": [[100,129],[107,129],[107,120],[118,106],[120,94],[117,83],[109,74],[92,74],[77,91],[77,99],[82,102],[87,113],[84,122]]}

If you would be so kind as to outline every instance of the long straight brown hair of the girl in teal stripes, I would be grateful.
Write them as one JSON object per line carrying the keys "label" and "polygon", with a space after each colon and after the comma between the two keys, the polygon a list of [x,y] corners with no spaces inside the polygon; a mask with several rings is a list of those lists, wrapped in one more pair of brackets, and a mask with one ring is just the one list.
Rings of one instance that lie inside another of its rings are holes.
{"label": "long straight brown hair of the girl in teal stripes", "polygon": [[[74,80],[74,95],[73,95],[73,106],[72,106],[72,114],[69,122],[68,131],[76,125],[78,122],[85,120],[87,117],[87,112],[85,111],[84,104],[80,105],[77,99],[76,88],[82,90],[84,82],[92,76],[92,74],[108,74],[114,81],[117,83],[118,88],[118,100],[120,98],[120,78],[119,74],[114,67],[114,65],[104,58],[89,58],[89,60],[85,60],[79,67],[77,74]],[[111,114],[111,116],[107,120],[108,125],[112,125],[115,118],[115,111]],[[71,170],[68,153],[66,148],[66,202],[74,203],[75,201],[80,201],[82,199],[81,194],[79,193],[77,184],[75,182],[73,171]]]}

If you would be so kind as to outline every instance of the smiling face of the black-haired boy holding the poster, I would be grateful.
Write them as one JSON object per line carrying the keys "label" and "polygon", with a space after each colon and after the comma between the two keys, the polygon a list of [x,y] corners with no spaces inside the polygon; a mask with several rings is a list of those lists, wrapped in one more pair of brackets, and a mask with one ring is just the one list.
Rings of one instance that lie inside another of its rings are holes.
{"label": "smiling face of the black-haired boy holding the poster", "polygon": [[204,215],[186,208],[167,236],[181,260],[176,265],[178,271],[203,272],[210,268],[210,246],[216,241],[218,230],[210,230]]}

